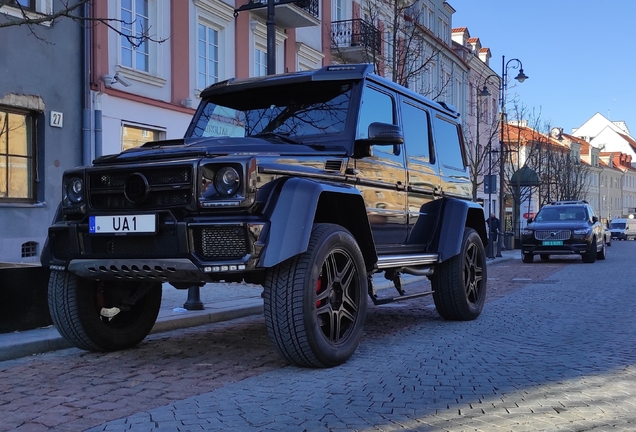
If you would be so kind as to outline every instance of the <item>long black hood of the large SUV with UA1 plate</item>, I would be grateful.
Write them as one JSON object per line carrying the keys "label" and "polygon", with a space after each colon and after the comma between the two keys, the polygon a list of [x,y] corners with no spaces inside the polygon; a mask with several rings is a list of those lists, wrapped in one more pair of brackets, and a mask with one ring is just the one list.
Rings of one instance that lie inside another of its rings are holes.
{"label": "long black hood of the large SUV with UA1 plate", "polygon": [[95,165],[128,163],[137,160],[162,160],[227,155],[280,155],[280,156],[347,156],[343,147],[322,144],[292,143],[277,137],[220,137],[191,138],[147,142],[115,155],[100,156]]}

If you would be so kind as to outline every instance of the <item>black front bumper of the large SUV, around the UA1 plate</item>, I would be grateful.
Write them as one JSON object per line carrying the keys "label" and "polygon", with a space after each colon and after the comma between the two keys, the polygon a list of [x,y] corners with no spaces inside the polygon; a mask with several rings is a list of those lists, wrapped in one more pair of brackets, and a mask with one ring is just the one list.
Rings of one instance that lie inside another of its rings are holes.
{"label": "black front bumper of the large SUV, around the UA1 plate", "polygon": [[158,215],[154,234],[90,234],[87,219],[49,228],[51,268],[87,279],[198,283],[258,271],[267,221]]}

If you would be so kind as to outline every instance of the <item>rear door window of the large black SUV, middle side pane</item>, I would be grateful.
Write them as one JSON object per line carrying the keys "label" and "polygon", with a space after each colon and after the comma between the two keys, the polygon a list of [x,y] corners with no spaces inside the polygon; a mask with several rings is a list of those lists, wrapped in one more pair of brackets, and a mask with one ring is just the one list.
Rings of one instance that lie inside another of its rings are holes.
{"label": "rear door window of the large black SUV, middle side pane", "polygon": [[425,109],[402,101],[402,130],[406,153],[418,163],[434,162],[430,157],[429,116]]}

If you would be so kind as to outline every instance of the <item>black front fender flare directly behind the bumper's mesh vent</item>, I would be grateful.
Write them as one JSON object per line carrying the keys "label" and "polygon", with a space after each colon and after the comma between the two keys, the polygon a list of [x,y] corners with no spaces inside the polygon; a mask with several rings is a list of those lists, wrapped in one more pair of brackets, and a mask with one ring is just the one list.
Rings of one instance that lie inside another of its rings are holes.
{"label": "black front fender flare directly behind the bumper's mesh vent", "polygon": [[[374,245],[368,243],[373,240],[360,191],[352,186],[294,177],[281,181],[269,197],[264,210],[265,216],[269,219],[269,228],[258,267],[273,267],[305,252],[309,246],[313,224],[320,222],[316,220],[319,201],[322,197],[334,194],[347,195],[348,199],[359,200],[359,205],[353,205],[354,208],[347,208],[346,211],[355,213],[356,217],[362,218],[364,223],[358,220],[355,227],[346,226],[347,224],[343,226],[356,237],[367,266],[369,261],[372,261],[374,265],[377,256]],[[324,221],[336,222],[329,219]]]}

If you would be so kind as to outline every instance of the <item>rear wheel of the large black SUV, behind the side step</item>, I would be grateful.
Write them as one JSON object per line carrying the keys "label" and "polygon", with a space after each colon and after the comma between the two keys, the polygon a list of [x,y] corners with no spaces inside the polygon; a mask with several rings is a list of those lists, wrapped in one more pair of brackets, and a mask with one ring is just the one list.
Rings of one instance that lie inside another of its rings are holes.
{"label": "rear wheel of the large black SUV, behind the side step", "polygon": [[476,319],[486,301],[486,253],[472,228],[464,229],[459,255],[442,262],[431,277],[437,313],[447,320]]}

